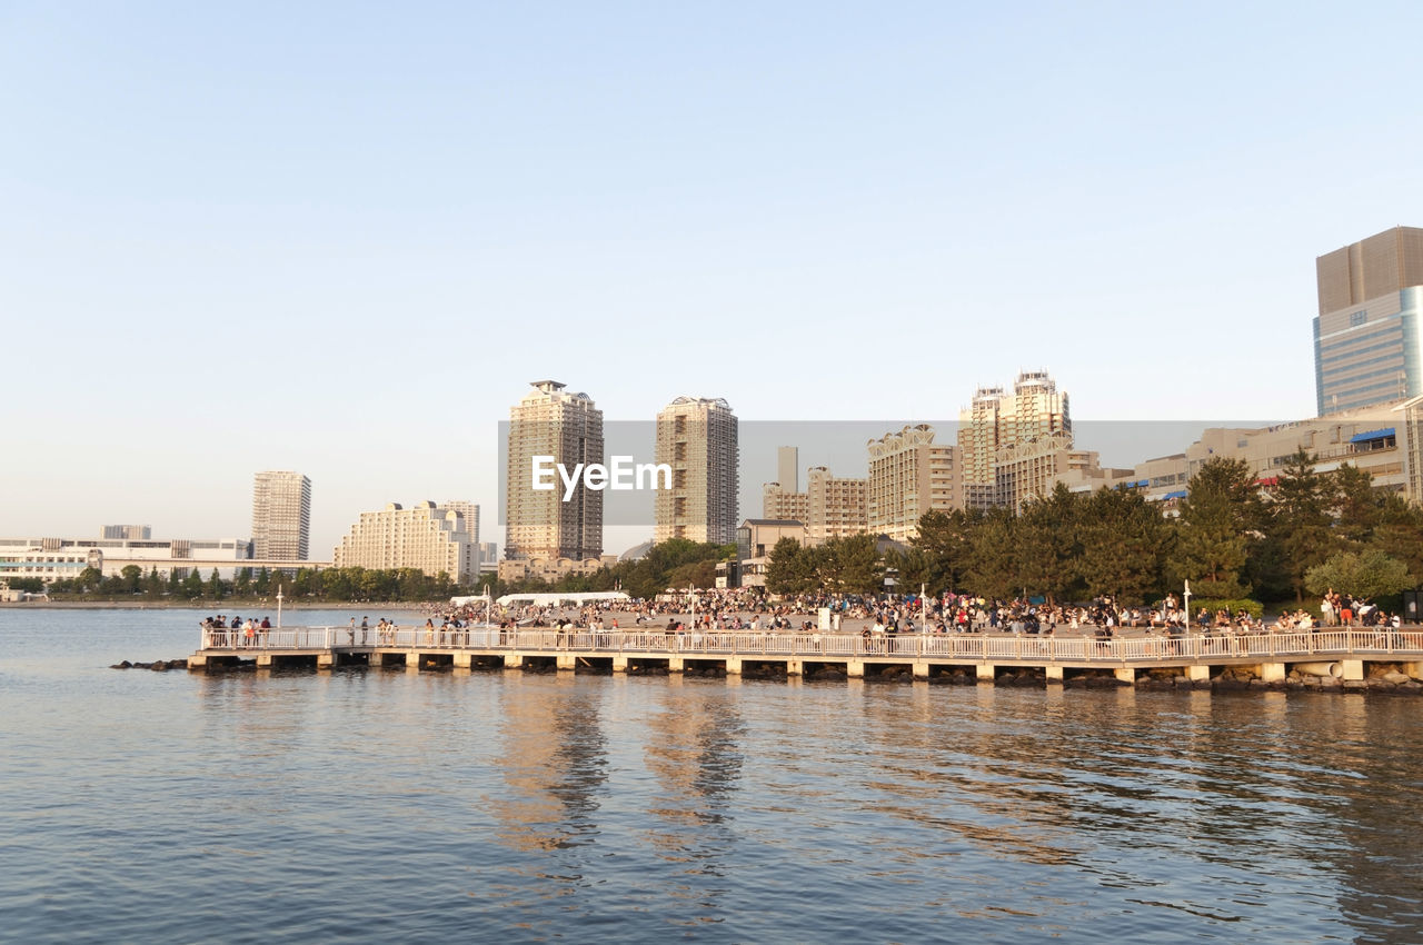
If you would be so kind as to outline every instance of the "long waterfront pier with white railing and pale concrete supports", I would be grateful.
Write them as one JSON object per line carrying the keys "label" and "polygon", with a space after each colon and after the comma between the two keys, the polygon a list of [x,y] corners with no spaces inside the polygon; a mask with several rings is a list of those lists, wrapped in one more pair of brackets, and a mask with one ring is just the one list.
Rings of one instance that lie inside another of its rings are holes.
{"label": "long waterfront pier with white railing and pale concrete supports", "polygon": [[[835,669],[847,677],[908,672],[915,680],[948,673],[992,683],[1000,675],[1042,670],[1046,682],[1063,683],[1087,670],[1109,670],[1123,685],[1160,670],[1208,685],[1227,670],[1248,672],[1264,683],[1282,683],[1291,672],[1318,679],[1362,683],[1380,665],[1410,682],[1423,682],[1423,628],[1331,629],[1242,636],[1141,635],[1093,636],[1010,633],[766,633],[686,632],[660,629],[458,630],[404,626],[299,626],[260,630],[250,640],[233,630],[202,630],[201,646],[188,660],[192,670],[255,660],[258,669],[307,666],[406,666],[420,670],[549,667],[568,672],[633,672],[647,667],[679,673],[716,669],[740,675],[748,663],[770,665],[785,676]],[[1101,676],[1101,672],[1093,672]]]}

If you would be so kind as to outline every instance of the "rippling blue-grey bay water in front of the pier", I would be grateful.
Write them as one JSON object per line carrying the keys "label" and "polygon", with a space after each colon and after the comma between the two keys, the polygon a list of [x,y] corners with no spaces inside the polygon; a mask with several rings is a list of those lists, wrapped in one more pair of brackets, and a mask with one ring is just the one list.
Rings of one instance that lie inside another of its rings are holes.
{"label": "rippling blue-grey bay water in front of the pier", "polygon": [[1423,941],[1420,699],[107,669],[198,619],[0,609],[0,938]]}

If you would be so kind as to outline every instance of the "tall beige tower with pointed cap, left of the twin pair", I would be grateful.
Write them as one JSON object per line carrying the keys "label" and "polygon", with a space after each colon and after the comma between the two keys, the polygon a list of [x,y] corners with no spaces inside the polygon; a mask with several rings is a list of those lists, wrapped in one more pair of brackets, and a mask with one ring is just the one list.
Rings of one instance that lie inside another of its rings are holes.
{"label": "tall beige tower with pointed cap, left of the twin pair", "polygon": [[551,490],[535,490],[532,477],[535,457],[549,457],[569,472],[579,463],[602,463],[603,413],[592,397],[566,393],[556,380],[536,380],[532,386],[509,410],[505,558],[599,558],[603,494],[579,482],[564,501],[556,472]]}

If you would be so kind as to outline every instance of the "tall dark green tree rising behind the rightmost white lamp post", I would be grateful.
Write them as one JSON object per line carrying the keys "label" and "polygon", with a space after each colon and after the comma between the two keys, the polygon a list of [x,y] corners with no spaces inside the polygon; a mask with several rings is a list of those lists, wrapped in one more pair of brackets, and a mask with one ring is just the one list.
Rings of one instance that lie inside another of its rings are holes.
{"label": "tall dark green tree rising behind the rightmost white lamp post", "polygon": [[1249,593],[1241,572],[1259,522],[1259,500],[1244,460],[1212,457],[1191,478],[1177,519],[1170,566],[1192,581],[1201,599],[1235,601]]}

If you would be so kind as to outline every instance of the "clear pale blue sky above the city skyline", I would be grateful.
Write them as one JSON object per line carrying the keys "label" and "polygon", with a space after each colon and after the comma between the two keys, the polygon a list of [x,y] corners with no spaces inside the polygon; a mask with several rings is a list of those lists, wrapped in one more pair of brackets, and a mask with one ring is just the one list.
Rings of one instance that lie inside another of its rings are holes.
{"label": "clear pale blue sky above the city skyline", "polygon": [[0,0],[0,534],[246,537],[297,470],[313,558],[391,501],[498,538],[545,377],[608,420],[889,431],[1025,369],[1079,421],[1309,417],[1315,258],[1423,225],[1420,26]]}

